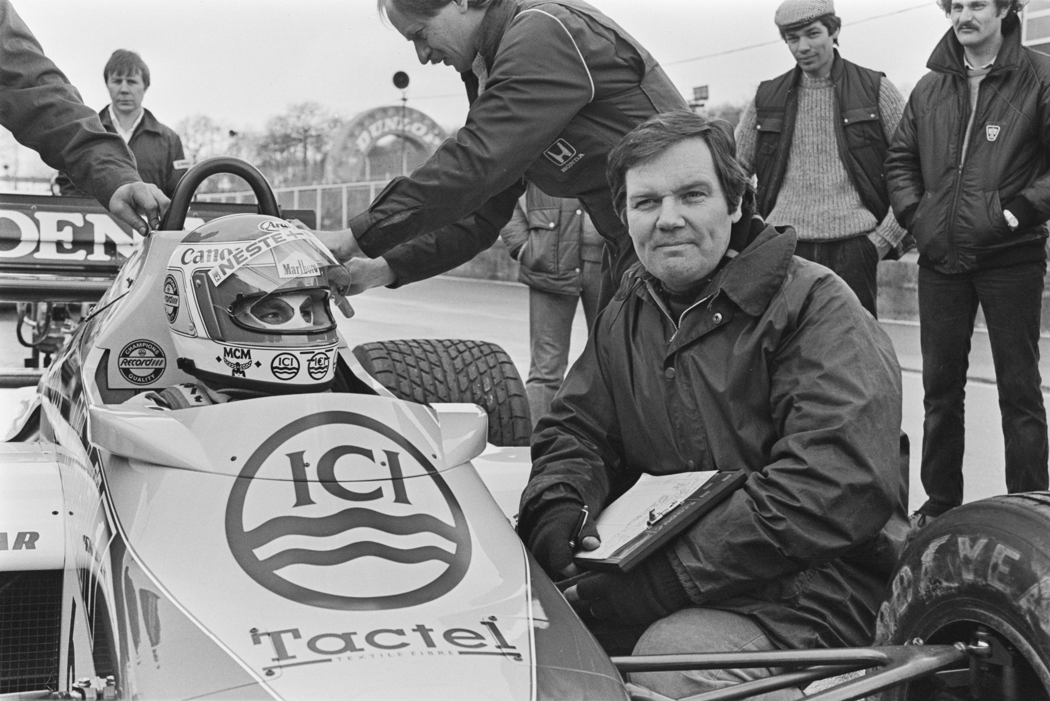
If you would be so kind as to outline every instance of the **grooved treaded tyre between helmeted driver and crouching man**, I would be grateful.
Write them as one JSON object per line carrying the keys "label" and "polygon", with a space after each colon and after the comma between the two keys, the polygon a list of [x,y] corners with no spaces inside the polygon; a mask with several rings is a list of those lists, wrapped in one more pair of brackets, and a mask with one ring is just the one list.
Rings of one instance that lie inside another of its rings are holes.
{"label": "grooved treaded tyre between helmeted driver and crouching man", "polygon": [[419,404],[470,402],[488,413],[488,442],[527,446],[532,432],[525,385],[503,348],[483,341],[407,339],[354,348],[369,375]]}

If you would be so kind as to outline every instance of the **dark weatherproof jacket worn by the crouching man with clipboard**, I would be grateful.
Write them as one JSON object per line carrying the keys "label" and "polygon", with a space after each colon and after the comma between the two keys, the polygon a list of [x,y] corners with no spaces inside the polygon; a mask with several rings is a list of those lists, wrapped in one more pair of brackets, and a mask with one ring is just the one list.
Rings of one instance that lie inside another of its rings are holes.
{"label": "dark weatherproof jacket worn by the crouching man with clipboard", "polygon": [[680,319],[625,277],[533,433],[522,521],[566,488],[597,513],[643,472],[743,469],[670,549],[692,601],[788,647],[867,644],[907,524],[900,367],[794,230],[750,227]]}

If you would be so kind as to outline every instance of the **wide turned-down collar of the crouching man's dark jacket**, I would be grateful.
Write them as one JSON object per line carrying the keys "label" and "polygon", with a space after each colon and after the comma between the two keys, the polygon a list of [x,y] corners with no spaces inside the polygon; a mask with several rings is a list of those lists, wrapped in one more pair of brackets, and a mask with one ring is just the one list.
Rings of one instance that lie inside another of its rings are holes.
{"label": "wide turned-down collar of the crouching man's dark jacket", "polygon": [[[739,225],[737,225],[739,226]],[[788,267],[795,254],[795,230],[774,227],[755,216],[747,225],[751,243],[735,258],[727,262],[705,291],[708,297],[724,294],[742,312],[752,317],[761,316],[770,300],[788,275]],[[631,268],[625,284],[642,299],[655,303],[646,290],[645,282],[656,277],[639,262]]]}

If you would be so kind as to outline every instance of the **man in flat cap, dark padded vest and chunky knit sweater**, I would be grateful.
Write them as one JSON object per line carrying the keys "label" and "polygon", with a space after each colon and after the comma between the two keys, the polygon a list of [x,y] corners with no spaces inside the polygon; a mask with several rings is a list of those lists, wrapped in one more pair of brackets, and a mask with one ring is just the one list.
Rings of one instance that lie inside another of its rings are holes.
{"label": "man in flat cap, dark padded vest and chunky knit sweater", "polygon": [[876,267],[905,234],[883,169],[904,99],[839,56],[832,0],[784,0],[774,21],[796,65],[758,86],[738,157],[757,176],[759,214],[798,232],[795,255],[831,268],[876,315]]}

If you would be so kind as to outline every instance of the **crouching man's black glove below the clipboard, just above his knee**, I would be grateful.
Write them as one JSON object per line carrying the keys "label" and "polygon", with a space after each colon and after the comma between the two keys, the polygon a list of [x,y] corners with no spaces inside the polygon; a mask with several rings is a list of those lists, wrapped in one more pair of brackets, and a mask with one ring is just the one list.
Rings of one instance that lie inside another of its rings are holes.
{"label": "crouching man's black glove below the clipboard, just above his knee", "polygon": [[593,572],[576,581],[578,609],[598,620],[647,625],[690,604],[667,553],[658,551],[627,574]]}

